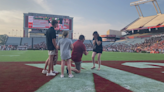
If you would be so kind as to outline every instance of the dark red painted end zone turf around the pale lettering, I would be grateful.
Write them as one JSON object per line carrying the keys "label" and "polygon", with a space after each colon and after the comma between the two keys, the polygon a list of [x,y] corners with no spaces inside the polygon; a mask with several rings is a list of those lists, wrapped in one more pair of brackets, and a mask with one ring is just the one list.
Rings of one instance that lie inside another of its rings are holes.
{"label": "dark red painted end zone turf around the pale lettering", "polygon": [[[125,66],[123,63],[149,62],[149,66],[160,68],[136,68]],[[55,77],[46,77],[40,68],[25,64],[43,64],[44,62],[0,62],[0,91],[1,92],[33,92]],[[85,61],[83,63],[91,63]],[[164,61],[103,61],[102,65],[144,76],[156,81],[164,82],[164,66],[151,63]],[[58,62],[58,64],[60,64]],[[72,65],[74,66],[74,65]],[[132,92],[117,83],[109,81],[93,73],[96,92]]]}

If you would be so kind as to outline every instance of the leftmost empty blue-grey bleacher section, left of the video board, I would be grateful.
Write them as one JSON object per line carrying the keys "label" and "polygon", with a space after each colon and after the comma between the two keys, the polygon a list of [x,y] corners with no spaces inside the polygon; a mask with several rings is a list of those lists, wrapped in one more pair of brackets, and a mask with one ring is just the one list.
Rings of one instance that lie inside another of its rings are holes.
{"label": "leftmost empty blue-grey bleacher section, left of the video board", "polygon": [[21,38],[20,37],[8,37],[6,45],[20,45]]}

